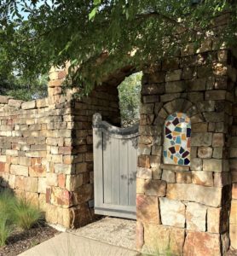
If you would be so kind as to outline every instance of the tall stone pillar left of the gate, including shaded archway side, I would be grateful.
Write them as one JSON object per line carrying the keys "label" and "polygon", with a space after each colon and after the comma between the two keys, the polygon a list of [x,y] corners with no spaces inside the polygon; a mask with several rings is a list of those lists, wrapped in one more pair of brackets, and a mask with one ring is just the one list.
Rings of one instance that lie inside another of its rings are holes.
{"label": "tall stone pillar left of the gate, including shaded archway side", "polygon": [[65,76],[63,70],[51,69],[49,73],[49,97],[61,106],[64,122],[55,121],[52,129],[61,131],[47,143],[47,220],[74,228],[95,219],[92,116],[99,112],[112,124],[120,124],[119,81],[109,79],[111,84],[103,83],[90,96],[81,100],[69,96],[70,101],[65,102],[61,94]]}

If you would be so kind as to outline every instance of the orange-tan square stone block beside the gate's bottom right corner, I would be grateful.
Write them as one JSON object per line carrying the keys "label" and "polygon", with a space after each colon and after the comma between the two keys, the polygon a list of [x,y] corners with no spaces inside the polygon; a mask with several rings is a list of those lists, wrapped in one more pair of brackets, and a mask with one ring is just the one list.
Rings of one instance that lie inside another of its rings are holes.
{"label": "orange-tan square stone block beside the gate's bottom right corner", "polygon": [[136,219],[142,223],[160,224],[157,196],[136,195]]}

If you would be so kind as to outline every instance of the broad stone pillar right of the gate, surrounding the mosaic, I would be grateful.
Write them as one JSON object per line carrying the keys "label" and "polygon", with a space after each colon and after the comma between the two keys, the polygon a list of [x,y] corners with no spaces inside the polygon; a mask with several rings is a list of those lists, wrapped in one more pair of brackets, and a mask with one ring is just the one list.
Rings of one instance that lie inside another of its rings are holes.
{"label": "broad stone pillar right of the gate, surrounding the mosaic", "polygon": [[[198,51],[188,45],[176,57],[144,70],[136,183],[137,248],[159,253],[169,250],[172,255],[222,255],[228,250],[228,139],[234,143],[229,131],[235,82],[231,54],[216,50],[215,44],[207,41]],[[191,119],[191,166],[163,164],[165,119],[176,112],[187,113]],[[235,164],[232,171],[234,168]],[[234,180],[235,172],[232,174]],[[234,204],[233,200],[233,246]]]}

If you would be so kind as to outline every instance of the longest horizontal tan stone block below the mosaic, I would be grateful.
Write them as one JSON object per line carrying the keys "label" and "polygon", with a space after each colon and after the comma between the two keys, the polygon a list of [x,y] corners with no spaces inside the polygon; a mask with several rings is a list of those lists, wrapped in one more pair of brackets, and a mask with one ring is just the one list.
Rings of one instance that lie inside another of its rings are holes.
{"label": "longest horizontal tan stone block below the mosaic", "polygon": [[166,197],[177,201],[195,201],[210,207],[220,207],[222,189],[190,183],[168,183]]}

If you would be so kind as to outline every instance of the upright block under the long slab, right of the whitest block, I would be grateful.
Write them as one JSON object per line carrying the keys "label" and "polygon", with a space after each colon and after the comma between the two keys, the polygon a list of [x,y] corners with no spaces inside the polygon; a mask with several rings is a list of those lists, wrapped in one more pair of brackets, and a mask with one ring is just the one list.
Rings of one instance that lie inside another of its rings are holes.
{"label": "upright block under the long slab, right of the whitest block", "polygon": [[186,208],[187,230],[205,231],[206,207],[188,202]]}

